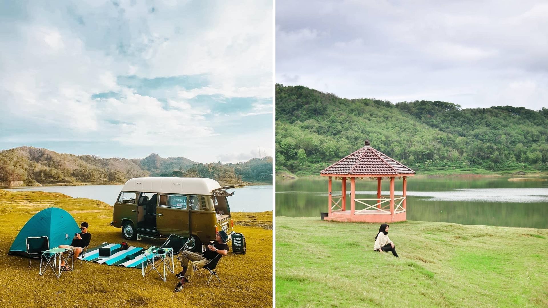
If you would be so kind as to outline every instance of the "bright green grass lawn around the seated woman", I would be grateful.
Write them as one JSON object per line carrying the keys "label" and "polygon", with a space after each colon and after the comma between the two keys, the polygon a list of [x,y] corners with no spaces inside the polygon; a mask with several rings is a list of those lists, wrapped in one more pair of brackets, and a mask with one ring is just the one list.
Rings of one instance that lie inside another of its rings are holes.
{"label": "bright green grass lawn around the seated woman", "polygon": [[379,225],[276,217],[276,305],[548,306],[548,230],[393,223],[397,259]]}

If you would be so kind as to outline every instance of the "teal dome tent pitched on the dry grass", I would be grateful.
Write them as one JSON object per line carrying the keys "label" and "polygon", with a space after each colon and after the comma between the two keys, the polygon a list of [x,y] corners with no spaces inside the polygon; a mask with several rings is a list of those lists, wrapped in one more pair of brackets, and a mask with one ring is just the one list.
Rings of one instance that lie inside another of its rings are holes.
{"label": "teal dome tent pitched on the dry grass", "polygon": [[59,245],[70,245],[74,234],[78,232],[80,232],[78,224],[66,210],[60,208],[43,209],[32,216],[19,231],[8,254],[28,257],[27,237],[47,236],[49,248],[53,248]]}

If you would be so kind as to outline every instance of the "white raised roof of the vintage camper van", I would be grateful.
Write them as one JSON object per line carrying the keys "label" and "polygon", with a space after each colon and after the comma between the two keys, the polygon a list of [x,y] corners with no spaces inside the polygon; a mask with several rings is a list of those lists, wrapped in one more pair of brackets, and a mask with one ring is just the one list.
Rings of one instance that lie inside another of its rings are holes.
{"label": "white raised roof of the vintage camper van", "polygon": [[219,188],[217,181],[208,178],[133,178],[125,182],[122,191],[213,195],[212,190]]}

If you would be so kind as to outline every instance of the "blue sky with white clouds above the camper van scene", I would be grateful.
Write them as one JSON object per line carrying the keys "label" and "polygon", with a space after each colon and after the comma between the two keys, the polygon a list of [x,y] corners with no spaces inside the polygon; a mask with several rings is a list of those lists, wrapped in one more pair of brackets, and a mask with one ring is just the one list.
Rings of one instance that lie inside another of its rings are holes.
{"label": "blue sky with white clouds above the camper van scene", "polygon": [[3,1],[0,150],[272,155],[271,1]]}

